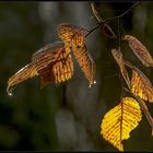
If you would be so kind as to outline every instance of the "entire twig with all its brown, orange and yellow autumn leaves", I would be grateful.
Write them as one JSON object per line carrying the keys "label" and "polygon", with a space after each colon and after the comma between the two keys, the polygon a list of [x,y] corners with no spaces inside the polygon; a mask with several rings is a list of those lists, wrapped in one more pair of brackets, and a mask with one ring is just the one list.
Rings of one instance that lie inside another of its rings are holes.
{"label": "entire twig with all its brown, orange and yellow autumn leaves", "polygon": [[[138,3],[132,5],[131,9]],[[102,30],[105,36],[108,38],[116,38],[119,44],[117,45],[118,49],[111,49],[111,54],[116,63],[119,66],[122,92],[120,104],[106,113],[102,119],[101,134],[116,149],[123,151],[122,140],[130,138],[130,132],[139,125],[142,118],[142,113],[153,130],[153,119],[144,102],[153,102],[153,86],[150,80],[138,68],[123,59],[122,51],[125,50],[122,50],[121,44],[123,44],[125,40],[128,42],[128,46],[145,67],[153,66],[153,58],[146,47],[142,45],[138,38],[131,35],[121,36],[119,19],[128,13],[130,9],[119,16],[105,20],[96,11],[94,3],[92,3],[91,7],[93,14],[97,19],[97,25],[91,31],[87,31],[79,25],[71,25],[69,23],[59,24],[57,33],[61,42],[46,45],[35,52],[32,57],[32,62],[23,67],[9,79],[7,91],[11,94],[12,89],[16,84],[35,75],[40,76],[42,87],[49,83],[61,83],[71,79],[74,73],[72,54],[91,87],[96,83],[96,66],[92,56],[87,51],[85,37],[97,27],[103,26]],[[108,25],[109,21],[116,19],[118,20],[117,36]],[[132,70],[131,78],[129,76],[129,71],[126,67],[129,67],[130,70]],[[128,96],[126,94],[128,94]]]}

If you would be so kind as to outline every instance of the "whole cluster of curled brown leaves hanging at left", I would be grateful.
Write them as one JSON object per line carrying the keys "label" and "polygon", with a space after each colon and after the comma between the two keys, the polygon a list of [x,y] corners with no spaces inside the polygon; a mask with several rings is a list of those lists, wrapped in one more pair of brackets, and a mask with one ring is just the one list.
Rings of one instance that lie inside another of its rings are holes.
{"label": "whole cluster of curled brown leaves hanging at left", "polygon": [[[85,45],[85,28],[70,24],[58,26],[59,37],[63,40],[46,45],[33,55],[32,63],[22,68],[8,81],[8,93],[11,94],[14,85],[34,75],[40,76],[40,86],[48,83],[61,83],[73,74],[72,52],[81,70],[89,80],[89,86],[95,84],[95,63]],[[33,66],[33,67],[30,67]]]}

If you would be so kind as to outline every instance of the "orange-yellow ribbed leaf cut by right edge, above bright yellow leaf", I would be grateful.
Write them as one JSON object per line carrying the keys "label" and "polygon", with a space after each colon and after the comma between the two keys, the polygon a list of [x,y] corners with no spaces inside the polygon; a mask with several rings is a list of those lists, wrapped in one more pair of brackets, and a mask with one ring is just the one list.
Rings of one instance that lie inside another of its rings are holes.
{"label": "orange-yellow ribbed leaf cut by right edge, above bright yellow leaf", "polygon": [[144,101],[153,102],[153,86],[149,79],[138,69],[132,71],[131,92]]}

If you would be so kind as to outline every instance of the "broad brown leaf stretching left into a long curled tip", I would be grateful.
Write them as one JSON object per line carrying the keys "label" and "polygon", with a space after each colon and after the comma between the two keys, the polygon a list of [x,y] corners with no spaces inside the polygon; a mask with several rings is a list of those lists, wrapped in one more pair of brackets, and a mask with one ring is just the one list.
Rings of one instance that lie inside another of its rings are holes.
{"label": "broad brown leaf stretching left into a long curled tip", "polygon": [[64,48],[64,44],[57,42],[46,45],[33,55],[32,63],[17,71],[8,81],[8,93],[14,85],[33,78],[40,76],[40,86],[48,83],[61,83],[69,80],[73,74],[73,62],[70,48]]}

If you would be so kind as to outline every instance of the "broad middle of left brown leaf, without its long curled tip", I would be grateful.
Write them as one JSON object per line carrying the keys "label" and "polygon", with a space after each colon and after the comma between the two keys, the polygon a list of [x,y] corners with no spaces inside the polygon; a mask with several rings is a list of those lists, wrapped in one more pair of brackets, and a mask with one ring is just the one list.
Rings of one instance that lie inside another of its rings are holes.
{"label": "broad middle of left brown leaf, without its long curled tip", "polygon": [[33,62],[42,79],[42,87],[48,83],[61,83],[73,74],[70,48],[63,43],[49,44],[33,55]]}

